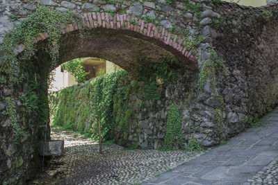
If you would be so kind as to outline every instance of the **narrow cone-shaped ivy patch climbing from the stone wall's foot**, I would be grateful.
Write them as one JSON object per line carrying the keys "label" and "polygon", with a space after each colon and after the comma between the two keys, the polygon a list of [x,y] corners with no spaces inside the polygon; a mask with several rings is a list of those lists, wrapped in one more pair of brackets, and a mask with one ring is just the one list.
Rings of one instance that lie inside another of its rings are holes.
{"label": "narrow cone-shaped ivy patch climbing from the stone wall's foot", "polygon": [[177,105],[172,104],[170,112],[167,114],[163,150],[174,150],[177,145],[183,149],[181,115],[179,114],[179,108]]}

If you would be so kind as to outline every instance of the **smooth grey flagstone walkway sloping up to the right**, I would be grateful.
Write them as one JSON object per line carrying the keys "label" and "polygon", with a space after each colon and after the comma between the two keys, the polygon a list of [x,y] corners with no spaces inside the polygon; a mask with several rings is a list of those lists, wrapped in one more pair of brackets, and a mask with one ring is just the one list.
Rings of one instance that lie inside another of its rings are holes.
{"label": "smooth grey flagstone walkway sloping up to the right", "polygon": [[[278,109],[261,121],[262,127],[238,134],[227,145],[213,148],[144,184],[250,184],[247,179],[278,157]],[[277,169],[274,172],[278,175]]]}

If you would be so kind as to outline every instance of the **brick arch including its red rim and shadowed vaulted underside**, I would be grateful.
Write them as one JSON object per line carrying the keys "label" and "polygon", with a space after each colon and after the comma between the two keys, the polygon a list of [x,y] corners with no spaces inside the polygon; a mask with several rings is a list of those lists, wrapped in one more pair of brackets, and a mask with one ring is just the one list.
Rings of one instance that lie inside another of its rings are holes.
{"label": "brick arch including its red rim and shadowed vaulted underside", "polygon": [[[134,71],[135,67],[139,65],[136,64],[135,60],[149,58],[154,62],[158,61],[159,58],[175,57],[181,62],[181,67],[197,69],[197,52],[194,49],[189,49],[181,36],[170,33],[163,26],[146,23],[144,19],[126,14],[114,15],[108,12],[88,12],[79,16],[83,21],[83,26],[85,26],[85,32],[83,33],[85,37],[84,39],[79,37],[78,31],[81,29],[81,23],[78,21],[68,24],[62,30],[59,64],[73,58],[93,56],[110,60],[126,69],[126,71]],[[101,41],[98,35],[101,35],[105,40]],[[48,37],[48,33],[40,33],[35,42],[40,45],[41,42],[47,41]],[[115,43],[109,45],[111,44],[109,39]],[[130,39],[130,43],[128,39]],[[97,43],[93,43],[96,40]],[[104,42],[103,46],[101,46],[101,42]],[[84,45],[87,46],[86,51],[77,49]],[[126,47],[121,47],[122,45]],[[89,46],[92,46],[97,52],[92,52],[88,48]],[[114,50],[114,52],[106,51],[105,47],[113,48],[111,50]],[[129,49],[128,53],[124,53],[124,49],[127,48]],[[15,54],[22,53],[24,49],[23,44],[19,45],[15,49]],[[101,52],[101,49],[104,52]],[[131,51],[138,52],[138,54],[132,55]],[[74,54],[72,55],[72,53]],[[121,54],[125,58],[121,57]]]}

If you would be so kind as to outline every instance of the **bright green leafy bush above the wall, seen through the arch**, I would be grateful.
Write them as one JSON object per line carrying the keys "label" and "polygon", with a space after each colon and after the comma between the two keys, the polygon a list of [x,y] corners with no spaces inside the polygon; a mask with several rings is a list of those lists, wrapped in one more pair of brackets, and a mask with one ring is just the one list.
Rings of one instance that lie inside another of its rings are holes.
{"label": "bright green leafy bush above the wall, seen through the arch", "polygon": [[71,73],[77,82],[85,82],[89,74],[85,72],[85,68],[83,64],[81,64],[81,58],[76,58],[62,64],[62,69]]}

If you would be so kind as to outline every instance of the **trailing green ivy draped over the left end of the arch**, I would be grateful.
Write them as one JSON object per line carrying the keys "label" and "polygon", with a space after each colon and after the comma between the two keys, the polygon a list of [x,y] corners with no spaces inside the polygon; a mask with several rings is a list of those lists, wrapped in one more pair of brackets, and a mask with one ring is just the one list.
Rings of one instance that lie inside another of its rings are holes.
{"label": "trailing green ivy draped over the left end of the arch", "polygon": [[[11,82],[18,77],[19,67],[22,65],[14,53],[19,44],[24,44],[25,50],[20,60],[30,60],[35,55],[35,40],[39,33],[48,33],[48,52],[52,63],[58,60],[59,39],[67,24],[70,24],[76,15],[73,13],[61,13],[46,6],[38,6],[32,15],[21,21],[13,30],[6,33],[1,46],[0,54],[4,55],[1,62],[0,72],[6,72]],[[82,27],[82,26],[81,26]]]}

